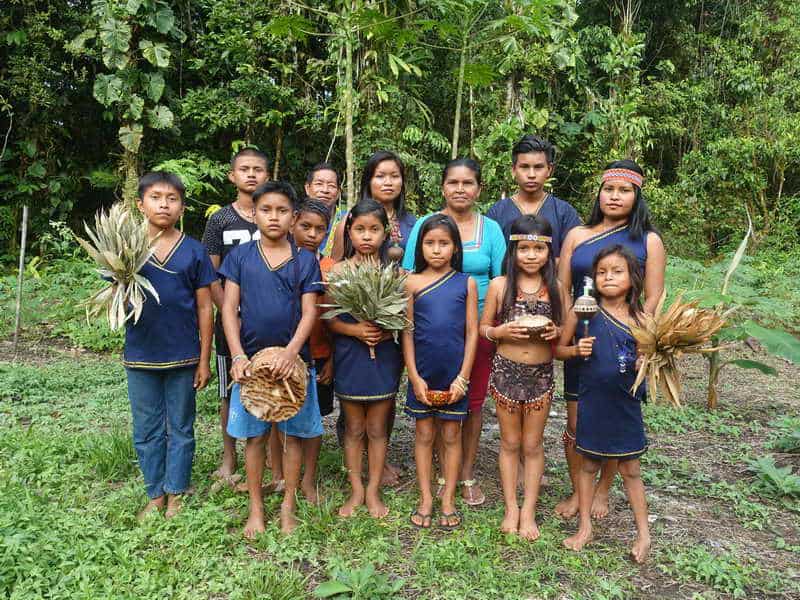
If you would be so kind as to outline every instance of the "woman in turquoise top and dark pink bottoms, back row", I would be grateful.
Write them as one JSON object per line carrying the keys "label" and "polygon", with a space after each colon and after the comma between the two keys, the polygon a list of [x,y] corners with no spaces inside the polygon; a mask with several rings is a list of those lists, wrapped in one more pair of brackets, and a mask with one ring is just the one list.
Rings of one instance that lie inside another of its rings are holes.
{"label": "woman in turquoise top and dark pink bottoms, back row", "polygon": [[[483,300],[492,277],[503,270],[506,241],[503,230],[495,221],[474,210],[481,193],[481,167],[470,158],[451,160],[442,171],[442,195],[444,208],[440,211],[451,217],[458,225],[464,252],[464,273],[471,275],[478,284],[478,312],[483,310]],[[416,248],[420,227],[431,215],[419,219],[408,235],[408,248]],[[407,252],[403,268],[414,270],[414,253]],[[463,465],[461,467],[462,496],[470,506],[479,506],[486,501],[480,486],[475,482],[473,468],[478,455],[478,442],[483,424],[481,410],[489,386],[489,371],[492,366],[494,344],[479,338],[475,363],[470,374],[469,416],[461,432],[463,443]],[[439,480],[439,485],[443,485]]]}

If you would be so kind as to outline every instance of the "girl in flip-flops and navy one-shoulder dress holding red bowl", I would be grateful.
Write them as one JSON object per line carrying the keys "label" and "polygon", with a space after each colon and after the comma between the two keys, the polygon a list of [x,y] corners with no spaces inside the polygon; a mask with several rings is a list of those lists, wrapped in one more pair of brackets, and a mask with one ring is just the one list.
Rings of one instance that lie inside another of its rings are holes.
{"label": "girl in flip-flops and navy one-shoulder dress holding red bowl", "polygon": [[[441,527],[461,524],[456,512],[456,480],[461,468],[461,423],[467,418],[469,374],[478,344],[478,287],[461,272],[461,236],[447,215],[434,215],[417,237],[414,274],[409,275],[408,318],[403,332],[408,367],[406,412],[416,419],[414,457],[420,502],[411,515],[416,527],[431,526],[431,463],[437,426],[444,446]],[[427,392],[449,392],[450,402],[432,406]]]}

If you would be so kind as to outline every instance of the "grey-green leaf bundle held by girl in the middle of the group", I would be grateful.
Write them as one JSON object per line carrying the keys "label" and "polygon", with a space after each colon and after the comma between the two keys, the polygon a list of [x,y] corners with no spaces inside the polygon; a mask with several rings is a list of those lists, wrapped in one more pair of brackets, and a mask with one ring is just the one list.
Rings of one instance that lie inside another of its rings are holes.
{"label": "grey-green leaf bundle held by girl in the middle of the group", "polygon": [[[397,341],[398,333],[411,326],[406,316],[406,277],[392,265],[348,261],[328,277],[327,292],[333,303],[323,305],[331,310],[322,318],[333,319],[347,313],[392,332]],[[372,348],[370,356],[375,357]]]}

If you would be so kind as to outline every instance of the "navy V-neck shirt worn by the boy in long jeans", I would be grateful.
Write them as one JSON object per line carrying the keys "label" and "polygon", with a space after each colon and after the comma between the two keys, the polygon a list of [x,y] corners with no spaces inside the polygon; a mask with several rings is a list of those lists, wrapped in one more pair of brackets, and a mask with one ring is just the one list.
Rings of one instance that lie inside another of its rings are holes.
{"label": "navy V-neck shirt worn by the boy in long jeans", "polygon": [[145,292],[139,320],[125,326],[122,364],[132,369],[172,369],[200,361],[199,288],[217,280],[205,247],[181,234],[164,261],[153,256],[139,274],[158,292]]}

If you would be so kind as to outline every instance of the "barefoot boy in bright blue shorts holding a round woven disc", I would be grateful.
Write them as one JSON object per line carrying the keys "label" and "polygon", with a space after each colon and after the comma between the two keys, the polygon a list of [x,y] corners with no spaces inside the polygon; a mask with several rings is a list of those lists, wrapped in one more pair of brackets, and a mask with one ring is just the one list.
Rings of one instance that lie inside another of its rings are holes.
{"label": "barefoot boy in bright blue shorts holding a round woven disc", "polygon": [[[245,468],[250,515],[244,534],[248,538],[264,531],[261,478],[271,427],[244,409],[238,384],[250,375],[250,357],[263,348],[285,347],[272,365],[279,377],[291,373],[298,354],[306,363],[311,362],[306,342],[317,318],[317,295],[322,291],[315,256],[295,248],[287,237],[295,204],[296,196],[288,183],[269,181],[259,186],[253,192],[253,208],[261,238],[233,249],[220,269],[226,279],[222,324],[232,354],[231,376],[236,382],[231,390],[228,433],[247,439]],[[313,369],[310,372],[313,378]],[[290,533],[297,524],[295,492],[300,479],[301,440],[322,435],[315,386],[308,386],[300,412],[277,427],[286,480],[281,530]]]}

